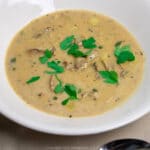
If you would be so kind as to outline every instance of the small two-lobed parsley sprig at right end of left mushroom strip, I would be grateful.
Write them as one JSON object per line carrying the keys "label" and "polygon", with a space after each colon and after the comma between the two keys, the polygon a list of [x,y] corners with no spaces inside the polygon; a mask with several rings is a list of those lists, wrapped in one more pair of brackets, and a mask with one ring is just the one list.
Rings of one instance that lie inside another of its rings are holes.
{"label": "small two-lobed parsley sprig at right end of left mushroom strip", "polygon": [[39,58],[40,63],[41,63],[41,64],[47,63],[48,59],[51,58],[52,55],[53,55],[52,51],[46,49],[45,52],[44,52],[44,56],[41,56],[41,57]]}

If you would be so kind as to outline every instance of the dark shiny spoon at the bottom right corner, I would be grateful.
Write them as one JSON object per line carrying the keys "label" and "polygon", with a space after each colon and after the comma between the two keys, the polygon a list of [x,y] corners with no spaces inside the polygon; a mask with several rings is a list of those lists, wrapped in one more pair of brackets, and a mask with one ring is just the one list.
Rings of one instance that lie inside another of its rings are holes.
{"label": "dark shiny spoon at the bottom right corner", "polygon": [[150,150],[150,143],[138,139],[122,139],[109,142],[99,150]]}

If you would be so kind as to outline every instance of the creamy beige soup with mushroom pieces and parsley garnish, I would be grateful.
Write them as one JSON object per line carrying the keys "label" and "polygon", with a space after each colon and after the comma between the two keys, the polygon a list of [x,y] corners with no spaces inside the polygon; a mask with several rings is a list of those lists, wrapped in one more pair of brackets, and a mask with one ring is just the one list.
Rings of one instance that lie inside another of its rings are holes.
{"label": "creamy beige soup with mushroom pieces and parsley garnish", "polygon": [[43,112],[85,117],[119,106],[139,85],[144,55],[118,22],[66,10],[30,22],[12,40],[6,72],[25,103]]}

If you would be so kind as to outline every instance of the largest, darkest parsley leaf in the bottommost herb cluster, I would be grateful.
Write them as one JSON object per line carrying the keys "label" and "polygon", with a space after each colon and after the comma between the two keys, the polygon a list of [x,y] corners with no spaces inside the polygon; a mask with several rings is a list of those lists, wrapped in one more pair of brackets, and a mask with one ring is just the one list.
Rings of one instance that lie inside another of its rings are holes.
{"label": "largest, darkest parsley leaf in the bottommost herb cluster", "polygon": [[71,97],[71,99],[77,99],[77,88],[73,84],[66,84],[64,91]]}

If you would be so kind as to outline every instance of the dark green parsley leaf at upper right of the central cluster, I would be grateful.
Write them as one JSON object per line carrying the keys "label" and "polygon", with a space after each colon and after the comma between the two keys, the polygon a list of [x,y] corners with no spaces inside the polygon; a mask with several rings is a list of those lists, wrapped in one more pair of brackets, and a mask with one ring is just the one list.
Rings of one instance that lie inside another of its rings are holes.
{"label": "dark green parsley leaf at upper right of the central cluster", "polygon": [[93,49],[97,47],[95,42],[96,40],[93,37],[90,37],[88,39],[82,40],[82,45],[84,48]]}

